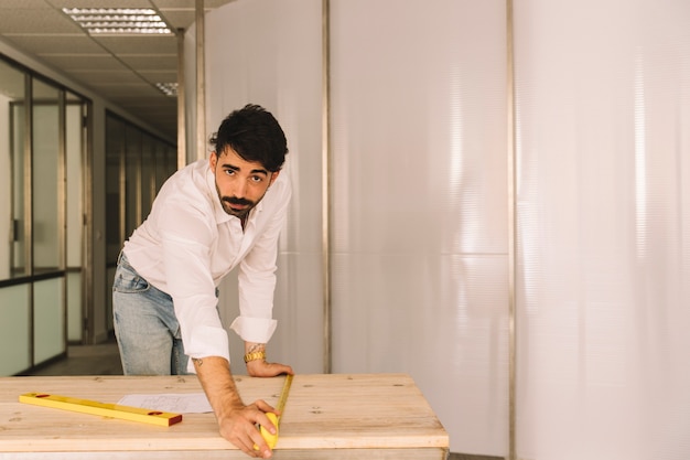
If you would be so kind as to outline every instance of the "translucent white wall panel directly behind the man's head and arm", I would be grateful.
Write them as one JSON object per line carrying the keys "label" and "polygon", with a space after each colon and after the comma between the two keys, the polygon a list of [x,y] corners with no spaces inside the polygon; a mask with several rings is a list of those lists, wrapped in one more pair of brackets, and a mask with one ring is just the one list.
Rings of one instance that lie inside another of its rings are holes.
{"label": "translucent white wall panel directly behind the man's head and arm", "polygon": [[[209,12],[205,25],[207,137],[231,110],[252,103],[270,110],[288,138],[282,174],[292,180],[293,199],[280,238],[273,307],[279,325],[269,359],[320,373],[321,1],[235,1]],[[238,314],[236,276],[220,291],[220,315],[229,325]],[[235,373],[246,372],[242,355],[242,342],[230,332]]]}

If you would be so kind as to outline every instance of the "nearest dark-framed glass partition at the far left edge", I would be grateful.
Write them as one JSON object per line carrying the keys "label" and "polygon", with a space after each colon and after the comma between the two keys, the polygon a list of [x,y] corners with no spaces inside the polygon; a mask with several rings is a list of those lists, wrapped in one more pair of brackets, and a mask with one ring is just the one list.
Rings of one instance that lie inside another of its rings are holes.
{"label": "nearest dark-framed glass partition at the far left edge", "polygon": [[64,354],[68,323],[82,340],[87,110],[0,56],[0,375]]}

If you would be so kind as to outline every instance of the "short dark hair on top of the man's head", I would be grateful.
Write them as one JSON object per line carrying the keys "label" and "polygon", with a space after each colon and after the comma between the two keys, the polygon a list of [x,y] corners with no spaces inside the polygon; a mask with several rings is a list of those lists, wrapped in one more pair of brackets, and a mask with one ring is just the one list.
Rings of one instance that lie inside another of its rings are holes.
{"label": "short dark hair on top of the man's head", "polygon": [[263,107],[247,104],[228,115],[211,137],[218,156],[230,147],[246,161],[258,161],[271,172],[285,161],[288,141],[278,120]]}

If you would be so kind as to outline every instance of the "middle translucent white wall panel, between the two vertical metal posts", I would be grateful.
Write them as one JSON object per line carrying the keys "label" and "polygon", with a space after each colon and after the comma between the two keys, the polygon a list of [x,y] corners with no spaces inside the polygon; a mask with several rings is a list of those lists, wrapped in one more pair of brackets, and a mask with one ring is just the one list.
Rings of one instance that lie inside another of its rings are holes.
{"label": "middle translucent white wall panel, between the two vertical metal posts", "polygon": [[504,1],[331,2],[333,368],[507,454]]}

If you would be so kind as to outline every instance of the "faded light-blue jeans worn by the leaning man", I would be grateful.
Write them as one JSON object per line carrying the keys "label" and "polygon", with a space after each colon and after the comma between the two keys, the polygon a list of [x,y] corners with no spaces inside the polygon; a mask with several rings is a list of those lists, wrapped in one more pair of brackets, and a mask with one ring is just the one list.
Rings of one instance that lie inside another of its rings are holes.
{"label": "faded light-blue jeans worn by the leaning man", "polygon": [[123,253],[112,284],[112,317],[125,375],[187,374],[172,297],[149,285]]}

